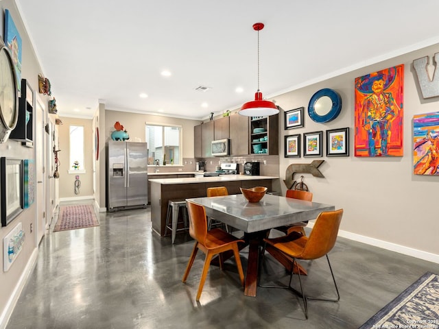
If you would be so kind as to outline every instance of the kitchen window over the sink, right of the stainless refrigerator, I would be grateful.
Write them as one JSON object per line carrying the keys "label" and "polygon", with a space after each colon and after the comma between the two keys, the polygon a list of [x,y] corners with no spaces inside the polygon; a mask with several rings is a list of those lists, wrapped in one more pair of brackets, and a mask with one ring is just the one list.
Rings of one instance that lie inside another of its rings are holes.
{"label": "kitchen window over the sink, right of the stainless refrigerator", "polygon": [[182,165],[181,134],[182,129],[178,126],[146,125],[148,164]]}

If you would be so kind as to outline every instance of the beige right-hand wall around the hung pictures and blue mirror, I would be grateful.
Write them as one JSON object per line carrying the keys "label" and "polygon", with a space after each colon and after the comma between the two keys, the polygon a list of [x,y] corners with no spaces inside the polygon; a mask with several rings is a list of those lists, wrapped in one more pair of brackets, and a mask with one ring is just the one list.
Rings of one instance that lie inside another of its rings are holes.
{"label": "beige right-hand wall around the hung pictures and blue mirror", "polygon": [[[425,100],[417,87],[413,60],[423,56],[433,56],[439,52],[439,45],[386,60],[378,64],[358,69],[351,73],[274,97],[283,110],[305,106],[309,99],[321,88],[332,88],[342,96],[342,112],[329,123],[312,121],[307,111],[305,127],[294,130],[281,128],[280,147],[286,134],[325,131],[350,127],[349,157],[327,158],[319,167],[324,178],[314,178],[305,174],[305,183],[314,195],[314,201],[335,204],[344,208],[342,234],[364,240],[368,243],[385,245],[390,249],[401,249],[404,253],[439,262],[439,215],[437,212],[439,175],[421,176],[413,174],[412,118],[414,114],[439,110],[439,97]],[[430,60],[430,62],[432,62]],[[404,73],[404,120],[403,157],[355,158],[353,156],[354,134],[354,80],[368,73],[405,64]],[[439,74],[439,71],[436,72]],[[283,114],[282,114],[283,117]],[[283,127],[283,122],[281,127]],[[324,147],[324,154],[326,154]],[[283,154],[283,152],[282,152]],[[285,170],[292,163],[309,163],[316,158],[284,158],[280,156],[281,180]],[[300,177],[300,175],[299,175]],[[297,176],[294,177],[298,178]],[[286,187],[283,184],[283,193]],[[377,239],[377,240],[375,240]],[[420,252],[420,253],[418,253]]]}

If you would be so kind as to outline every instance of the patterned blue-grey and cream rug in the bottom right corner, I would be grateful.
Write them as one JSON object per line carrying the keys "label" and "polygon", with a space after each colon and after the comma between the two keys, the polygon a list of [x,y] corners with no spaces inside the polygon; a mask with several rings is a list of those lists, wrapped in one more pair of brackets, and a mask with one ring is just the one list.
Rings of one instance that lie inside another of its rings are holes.
{"label": "patterned blue-grey and cream rug in the bottom right corner", "polygon": [[439,328],[439,276],[427,272],[359,329]]}

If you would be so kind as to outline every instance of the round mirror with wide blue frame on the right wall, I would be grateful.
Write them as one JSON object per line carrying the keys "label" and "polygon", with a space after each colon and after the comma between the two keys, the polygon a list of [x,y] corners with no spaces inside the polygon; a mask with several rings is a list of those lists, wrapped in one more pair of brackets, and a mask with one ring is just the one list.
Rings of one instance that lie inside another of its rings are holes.
{"label": "round mirror with wide blue frame on the right wall", "polygon": [[341,110],[342,97],[335,90],[329,88],[318,90],[309,100],[309,117],[318,123],[335,119]]}

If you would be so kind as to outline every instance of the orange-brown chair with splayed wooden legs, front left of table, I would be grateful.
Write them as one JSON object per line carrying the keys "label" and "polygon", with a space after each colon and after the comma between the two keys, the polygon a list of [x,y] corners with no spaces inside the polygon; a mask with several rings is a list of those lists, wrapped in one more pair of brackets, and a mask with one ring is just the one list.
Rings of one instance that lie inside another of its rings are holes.
{"label": "orange-brown chair with splayed wooden legs, front left of table", "polygon": [[213,230],[207,230],[206,210],[204,206],[194,204],[193,202],[187,202],[187,210],[189,212],[189,234],[195,239],[195,245],[191,258],[187,263],[185,274],[183,275],[182,282],[186,282],[189,271],[193,265],[193,260],[197,255],[198,249],[201,249],[206,258],[204,259],[204,266],[202,275],[200,278],[200,285],[198,286],[198,293],[196,300],[200,300],[200,296],[204,287],[204,281],[206,280],[207,271],[211,265],[213,256],[219,255],[219,267],[222,269],[222,257],[221,253],[228,250],[232,250],[235,256],[236,266],[239,273],[239,280],[244,287],[244,271],[242,271],[241,258],[239,258],[238,243],[244,240],[237,239],[232,234],[228,234],[220,228],[214,228]]}

